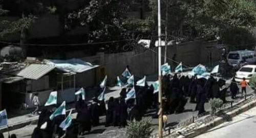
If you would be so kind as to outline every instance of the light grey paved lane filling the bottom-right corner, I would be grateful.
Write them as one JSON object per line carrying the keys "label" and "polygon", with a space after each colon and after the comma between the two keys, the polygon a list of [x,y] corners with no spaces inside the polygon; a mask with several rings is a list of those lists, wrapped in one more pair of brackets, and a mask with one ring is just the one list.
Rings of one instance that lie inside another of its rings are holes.
{"label": "light grey paved lane filling the bottom-right corner", "polygon": [[239,114],[230,122],[207,131],[196,138],[254,138],[256,137],[256,107]]}

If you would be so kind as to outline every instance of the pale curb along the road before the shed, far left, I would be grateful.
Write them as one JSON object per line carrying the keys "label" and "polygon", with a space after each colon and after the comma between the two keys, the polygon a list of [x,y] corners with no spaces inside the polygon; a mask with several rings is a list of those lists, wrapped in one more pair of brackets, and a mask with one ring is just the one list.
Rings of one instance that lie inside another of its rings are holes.
{"label": "pale curb along the road before the shed, far left", "polygon": [[[72,114],[76,113],[76,111],[74,109],[70,109],[70,110],[72,110]],[[70,110],[66,110],[66,113],[69,113]],[[8,125],[8,127],[0,128],[0,133],[7,132],[8,129],[9,129],[9,131],[12,131],[12,130],[15,130],[15,129],[23,128],[27,125],[37,124],[38,119],[39,119],[39,116],[35,116],[35,117],[32,117],[31,119],[28,119],[28,120],[25,120],[25,121],[10,124],[10,125]]]}

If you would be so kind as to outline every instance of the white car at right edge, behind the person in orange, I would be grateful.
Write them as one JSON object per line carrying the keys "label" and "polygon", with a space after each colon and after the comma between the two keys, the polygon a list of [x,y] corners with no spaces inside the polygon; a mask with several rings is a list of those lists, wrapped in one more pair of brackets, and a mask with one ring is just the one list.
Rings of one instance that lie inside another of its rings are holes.
{"label": "white car at right edge, behind the person in orange", "polygon": [[256,75],[256,65],[245,65],[236,73],[235,80],[241,82],[245,78],[249,82],[253,75]]}

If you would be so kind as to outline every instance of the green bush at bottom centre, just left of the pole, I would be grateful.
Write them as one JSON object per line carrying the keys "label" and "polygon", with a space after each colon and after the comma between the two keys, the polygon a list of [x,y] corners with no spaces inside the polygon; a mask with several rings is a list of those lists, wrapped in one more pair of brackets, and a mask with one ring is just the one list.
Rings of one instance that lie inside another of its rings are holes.
{"label": "green bush at bottom centre, just left of the pole", "polygon": [[129,135],[129,138],[149,138],[153,132],[151,126],[152,124],[150,119],[129,122],[126,133]]}

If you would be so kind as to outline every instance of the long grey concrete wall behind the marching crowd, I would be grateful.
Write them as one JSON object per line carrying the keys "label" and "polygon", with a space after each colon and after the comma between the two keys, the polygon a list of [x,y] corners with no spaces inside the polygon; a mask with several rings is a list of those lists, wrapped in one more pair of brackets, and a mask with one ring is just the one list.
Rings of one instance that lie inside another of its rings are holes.
{"label": "long grey concrete wall behind the marching crowd", "polygon": [[[185,42],[178,45],[172,45],[167,48],[167,62],[172,65],[172,57],[177,54],[176,60],[183,62],[187,66],[195,66],[199,63],[207,64],[208,54],[211,52],[212,61],[218,61],[221,57],[220,51],[215,48],[216,41],[204,42],[196,40],[192,42]],[[132,74],[136,77],[143,77],[144,75],[157,74],[158,57],[157,48],[147,50],[144,52],[124,52],[116,54],[98,53],[95,56],[84,57],[84,61],[93,64],[101,65],[96,71],[96,82],[100,82],[104,75],[108,75],[108,84],[116,83],[116,77],[121,75],[125,70],[126,65],[130,66]],[[164,55],[164,48],[162,48],[162,55]],[[162,62],[164,57],[162,57]],[[104,74],[101,71],[104,68]],[[172,67],[174,68],[174,67]]]}

